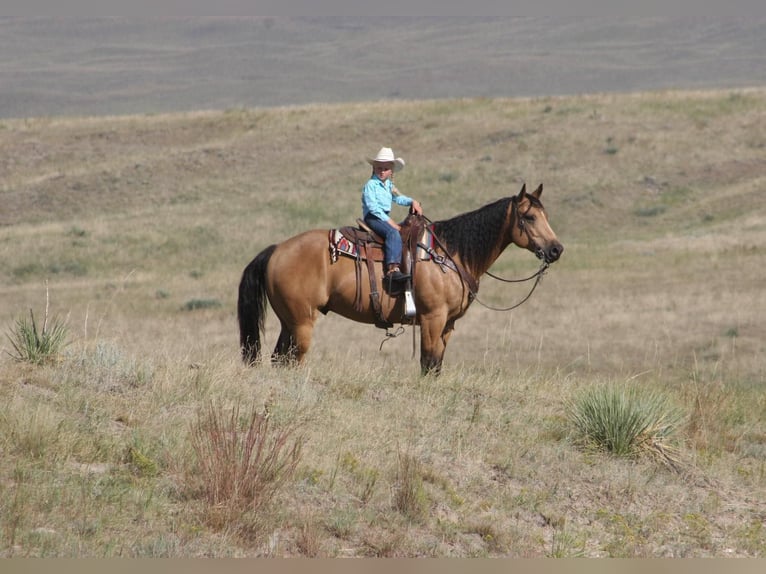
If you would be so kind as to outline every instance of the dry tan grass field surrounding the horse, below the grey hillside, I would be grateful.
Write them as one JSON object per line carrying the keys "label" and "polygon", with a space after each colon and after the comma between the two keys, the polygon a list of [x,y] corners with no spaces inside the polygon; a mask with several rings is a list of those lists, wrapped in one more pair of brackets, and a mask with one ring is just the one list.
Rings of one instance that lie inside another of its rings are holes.
{"label": "dry tan grass field surrounding the horse, below the grey hillside", "polygon": [[[0,122],[0,555],[763,557],[764,112],[749,89]],[[245,368],[244,266],[352,222],[383,145],[433,220],[542,182],[562,259],[519,309],[474,305],[439,378],[411,328],[381,347],[332,315],[304,365]],[[69,344],[16,360],[46,306]],[[680,413],[672,464],[578,440],[603,389]],[[284,464],[237,474],[248,437]],[[200,448],[227,440],[228,495]]]}

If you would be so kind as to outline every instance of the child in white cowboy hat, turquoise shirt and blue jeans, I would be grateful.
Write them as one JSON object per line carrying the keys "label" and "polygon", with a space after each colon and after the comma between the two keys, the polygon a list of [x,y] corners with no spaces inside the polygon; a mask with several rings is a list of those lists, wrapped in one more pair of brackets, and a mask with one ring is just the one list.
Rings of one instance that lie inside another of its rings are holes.
{"label": "child in white cowboy hat, turquoise shirt and blue jeans", "polygon": [[390,147],[380,148],[378,155],[367,158],[372,165],[372,175],[362,188],[362,217],[364,222],[384,239],[386,278],[389,281],[404,281],[409,278],[399,269],[402,260],[401,226],[391,219],[391,203],[410,205],[412,211],[423,214],[420,203],[402,195],[393,181],[393,174],[404,167],[404,160],[395,157]]}

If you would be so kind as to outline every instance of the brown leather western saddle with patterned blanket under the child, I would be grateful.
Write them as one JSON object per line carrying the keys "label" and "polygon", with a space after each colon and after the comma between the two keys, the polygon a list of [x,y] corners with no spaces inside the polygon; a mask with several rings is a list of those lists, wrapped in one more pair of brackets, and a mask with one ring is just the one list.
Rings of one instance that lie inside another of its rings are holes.
{"label": "brown leather western saddle with patterned blanket under the child", "polygon": [[[393,324],[383,317],[380,304],[380,292],[375,280],[375,264],[384,260],[383,238],[370,229],[363,220],[357,220],[357,227],[346,226],[330,230],[330,261],[335,263],[340,255],[352,257],[356,270],[356,296],[354,309],[361,311],[362,302],[362,262],[366,262],[367,274],[370,278],[370,300],[375,313],[375,326],[388,329]],[[426,220],[422,216],[410,214],[401,224],[402,237],[402,261],[400,267],[404,273],[412,277],[412,287],[415,285],[415,262],[418,260],[418,251],[423,250],[424,245],[431,243],[430,231],[426,226]],[[383,288],[391,297],[399,296],[404,290],[394,290],[392,285]]]}

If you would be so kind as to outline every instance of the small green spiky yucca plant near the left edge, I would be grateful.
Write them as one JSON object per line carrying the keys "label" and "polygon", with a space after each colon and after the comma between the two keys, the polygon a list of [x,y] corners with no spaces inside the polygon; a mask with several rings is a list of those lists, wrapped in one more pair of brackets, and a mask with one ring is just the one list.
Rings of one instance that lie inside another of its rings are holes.
{"label": "small green spiky yucca plant near the left edge", "polygon": [[38,329],[35,314],[30,309],[29,319],[26,316],[19,317],[10,333],[7,333],[15,351],[15,354],[9,354],[17,361],[42,365],[59,355],[67,345],[68,336],[66,321],[53,319],[49,323],[47,309],[42,329]]}

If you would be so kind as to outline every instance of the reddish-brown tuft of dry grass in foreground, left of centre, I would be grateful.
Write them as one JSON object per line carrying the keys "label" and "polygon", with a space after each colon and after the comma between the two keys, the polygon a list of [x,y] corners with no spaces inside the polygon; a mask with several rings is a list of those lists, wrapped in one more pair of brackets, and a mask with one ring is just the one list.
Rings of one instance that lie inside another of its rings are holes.
{"label": "reddish-brown tuft of dry grass in foreground, left of centre", "polygon": [[301,459],[302,437],[293,429],[273,429],[271,418],[255,408],[240,416],[209,405],[191,429],[196,468],[187,476],[207,503],[208,522],[223,527],[246,513],[264,509],[293,476]]}

